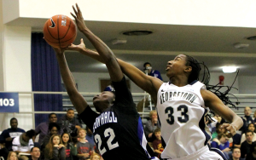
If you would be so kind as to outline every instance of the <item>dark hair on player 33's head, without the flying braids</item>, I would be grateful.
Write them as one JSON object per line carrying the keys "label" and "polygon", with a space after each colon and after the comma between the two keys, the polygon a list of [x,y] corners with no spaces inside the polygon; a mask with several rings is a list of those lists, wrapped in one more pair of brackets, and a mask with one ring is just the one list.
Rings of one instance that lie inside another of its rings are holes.
{"label": "dark hair on player 33's head, without the flying braids", "polygon": [[187,61],[186,66],[192,67],[192,71],[191,71],[191,73],[189,75],[189,79],[188,79],[188,82],[192,83],[193,81],[198,80],[199,74],[201,71],[201,66],[198,63],[198,61],[195,60],[194,57],[189,56],[187,54],[184,54],[184,55],[186,55],[186,61]]}

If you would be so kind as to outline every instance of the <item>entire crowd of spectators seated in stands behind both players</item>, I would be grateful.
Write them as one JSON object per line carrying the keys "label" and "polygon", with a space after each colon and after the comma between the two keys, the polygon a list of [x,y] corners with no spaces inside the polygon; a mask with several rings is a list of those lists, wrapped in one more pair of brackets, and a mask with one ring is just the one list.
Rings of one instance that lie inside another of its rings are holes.
{"label": "entire crowd of spectators seated in stands behind both players", "polygon": [[[244,126],[232,138],[228,138],[226,130],[222,128],[224,118],[218,115],[206,118],[206,124],[212,134],[209,146],[223,151],[229,160],[256,160],[256,111],[251,117],[251,108],[245,107],[244,113],[245,116],[241,117]],[[16,118],[10,119],[10,126],[10,129],[3,130],[0,135],[0,157],[4,159],[102,159],[96,149],[91,130],[82,128],[72,109],[59,121],[55,113],[49,114],[48,121],[40,123],[35,130],[25,131],[18,128]],[[144,131],[149,146],[154,150],[155,156],[160,158],[164,148],[156,111],[149,112]],[[35,142],[37,135],[38,142]]]}

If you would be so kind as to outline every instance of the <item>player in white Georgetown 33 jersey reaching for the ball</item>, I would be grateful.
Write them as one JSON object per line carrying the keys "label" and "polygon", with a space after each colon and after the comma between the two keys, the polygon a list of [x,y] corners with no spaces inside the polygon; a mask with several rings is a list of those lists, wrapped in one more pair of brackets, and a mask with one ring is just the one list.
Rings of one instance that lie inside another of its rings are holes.
{"label": "player in white Georgetown 33 jersey reaching for the ball", "polygon": [[[79,31],[84,31],[84,19],[78,11],[76,23]],[[102,50],[108,46],[100,46]],[[86,49],[83,40],[79,45],[72,44],[70,50],[77,50],[104,62],[96,52]],[[174,60],[167,62],[166,76],[170,83],[163,83],[160,79],[149,77],[137,67],[118,60],[122,71],[141,89],[151,94],[157,102],[157,112],[160,118],[161,134],[165,150],[161,157],[175,160],[219,160],[225,159],[219,152],[210,151],[207,141],[211,136],[207,134],[204,116],[211,109],[230,123],[223,127],[236,134],[241,128],[242,120],[215,94],[206,90],[203,83],[197,81],[201,66],[193,57],[179,54]],[[172,83],[171,83],[172,82]]]}

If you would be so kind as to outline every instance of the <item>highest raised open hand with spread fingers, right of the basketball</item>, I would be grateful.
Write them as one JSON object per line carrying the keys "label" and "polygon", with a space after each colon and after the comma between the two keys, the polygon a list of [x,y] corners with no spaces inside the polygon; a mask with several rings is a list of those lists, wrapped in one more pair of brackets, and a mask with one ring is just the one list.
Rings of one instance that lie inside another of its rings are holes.
{"label": "highest raised open hand with spread fingers, right of the basketball", "polygon": [[[73,7],[73,6],[72,6]],[[83,18],[83,15],[82,15],[82,12],[81,10],[79,9],[79,5],[78,3],[76,3],[76,8],[75,9],[73,7],[73,12],[74,14],[71,12],[70,14],[73,16],[73,18],[75,19],[76,21],[76,24],[79,28],[79,31],[83,31],[84,29],[86,29],[87,27],[85,26],[85,23],[84,23],[84,18]]]}

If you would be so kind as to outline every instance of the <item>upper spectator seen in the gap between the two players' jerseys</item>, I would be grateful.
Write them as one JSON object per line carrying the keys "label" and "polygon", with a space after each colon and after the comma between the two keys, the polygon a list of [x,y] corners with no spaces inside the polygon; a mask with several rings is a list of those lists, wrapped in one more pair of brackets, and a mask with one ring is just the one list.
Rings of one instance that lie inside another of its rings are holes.
{"label": "upper spectator seen in the gap between the two players' jerseys", "polygon": [[149,112],[149,120],[145,126],[145,134],[148,142],[153,142],[155,139],[154,129],[160,128],[160,123],[157,118],[157,113],[155,110]]}

